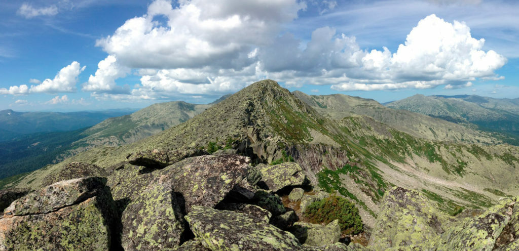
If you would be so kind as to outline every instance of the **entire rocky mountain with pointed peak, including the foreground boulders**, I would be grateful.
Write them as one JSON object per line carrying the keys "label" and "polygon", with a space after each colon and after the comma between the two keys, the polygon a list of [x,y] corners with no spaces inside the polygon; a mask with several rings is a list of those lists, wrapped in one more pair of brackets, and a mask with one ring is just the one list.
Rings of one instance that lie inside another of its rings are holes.
{"label": "entire rocky mountain with pointed peak, including the foreground boulders", "polygon": [[253,83],[2,180],[0,250],[519,250],[518,147],[376,109]]}

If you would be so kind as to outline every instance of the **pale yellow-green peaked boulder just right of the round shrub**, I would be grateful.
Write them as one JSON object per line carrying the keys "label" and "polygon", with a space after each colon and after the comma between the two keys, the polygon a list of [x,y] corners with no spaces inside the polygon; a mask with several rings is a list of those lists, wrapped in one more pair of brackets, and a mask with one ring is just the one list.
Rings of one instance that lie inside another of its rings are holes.
{"label": "pale yellow-green peaked boulder just right of the round shrub", "polygon": [[447,218],[417,191],[394,187],[385,193],[370,246],[384,250],[433,240],[444,232]]}

